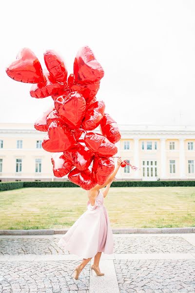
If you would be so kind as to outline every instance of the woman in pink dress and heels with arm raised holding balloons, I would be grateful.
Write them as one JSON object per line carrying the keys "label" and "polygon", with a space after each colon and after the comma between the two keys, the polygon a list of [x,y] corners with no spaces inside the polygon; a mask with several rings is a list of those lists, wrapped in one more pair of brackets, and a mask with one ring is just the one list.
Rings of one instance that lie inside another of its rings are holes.
{"label": "woman in pink dress and heels with arm raised holding balloons", "polygon": [[[76,280],[78,280],[79,273],[93,257],[94,264],[91,266],[91,272],[94,270],[98,276],[104,275],[99,270],[101,253],[113,253],[113,232],[107,209],[103,205],[103,198],[106,197],[121,163],[122,160],[119,157],[114,172],[106,182],[103,185],[97,184],[87,191],[89,198],[87,210],[58,242],[67,251],[83,258],[82,262],[74,270],[73,277]],[[101,191],[100,189],[104,187],[106,188]]]}

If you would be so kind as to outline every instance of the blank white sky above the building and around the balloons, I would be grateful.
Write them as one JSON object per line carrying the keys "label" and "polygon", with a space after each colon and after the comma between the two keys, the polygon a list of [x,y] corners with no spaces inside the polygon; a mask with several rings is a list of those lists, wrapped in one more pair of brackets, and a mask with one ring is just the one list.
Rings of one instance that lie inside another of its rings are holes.
{"label": "blank white sky above the building and around the balloons", "polygon": [[42,66],[58,51],[72,73],[89,45],[105,71],[97,98],[117,123],[195,125],[194,0],[7,0],[1,12],[0,122],[34,123],[52,102],[6,75],[22,47]]}

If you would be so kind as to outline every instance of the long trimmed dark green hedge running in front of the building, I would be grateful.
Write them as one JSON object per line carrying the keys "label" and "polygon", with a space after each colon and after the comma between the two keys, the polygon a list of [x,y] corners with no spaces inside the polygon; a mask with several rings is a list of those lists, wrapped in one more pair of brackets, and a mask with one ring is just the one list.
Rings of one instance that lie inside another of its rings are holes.
{"label": "long trimmed dark green hedge running in front of the building", "polygon": [[[195,181],[114,181],[111,187],[195,186]],[[28,187],[78,187],[70,181],[0,182],[0,191]]]}

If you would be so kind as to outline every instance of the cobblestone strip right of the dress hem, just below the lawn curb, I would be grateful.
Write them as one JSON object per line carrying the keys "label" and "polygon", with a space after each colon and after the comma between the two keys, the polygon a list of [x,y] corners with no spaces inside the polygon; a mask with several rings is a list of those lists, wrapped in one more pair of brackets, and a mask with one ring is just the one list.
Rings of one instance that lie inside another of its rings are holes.
{"label": "cobblestone strip right of the dress hem, just below the lawn curb", "polygon": [[117,237],[115,253],[188,253],[195,247],[178,236],[169,237]]}

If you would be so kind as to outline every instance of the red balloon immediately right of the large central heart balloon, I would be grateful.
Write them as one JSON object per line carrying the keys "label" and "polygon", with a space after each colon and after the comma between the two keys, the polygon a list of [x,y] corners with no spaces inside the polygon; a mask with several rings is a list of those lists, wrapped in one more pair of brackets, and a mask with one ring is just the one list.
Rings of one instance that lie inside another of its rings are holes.
{"label": "red balloon immediately right of the large central heart balloon", "polygon": [[93,130],[98,127],[105,111],[105,104],[103,101],[96,101],[88,106],[85,118],[82,121],[84,130]]}

